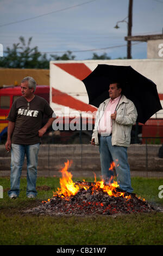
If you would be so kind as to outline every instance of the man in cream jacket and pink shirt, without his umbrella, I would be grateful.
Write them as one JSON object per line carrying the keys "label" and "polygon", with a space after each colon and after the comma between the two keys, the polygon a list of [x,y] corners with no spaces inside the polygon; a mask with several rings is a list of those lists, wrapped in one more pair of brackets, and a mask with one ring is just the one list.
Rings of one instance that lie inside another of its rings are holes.
{"label": "man in cream jacket and pink shirt, without his umbrella", "polygon": [[123,95],[121,83],[114,81],[110,84],[109,96],[98,107],[91,144],[99,145],[105,184],[112,183],[113,172],[109,169],[114,161],[118,185],[121,190],[132,193],[127,148],[137,111],[134,103]]}

